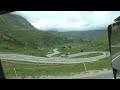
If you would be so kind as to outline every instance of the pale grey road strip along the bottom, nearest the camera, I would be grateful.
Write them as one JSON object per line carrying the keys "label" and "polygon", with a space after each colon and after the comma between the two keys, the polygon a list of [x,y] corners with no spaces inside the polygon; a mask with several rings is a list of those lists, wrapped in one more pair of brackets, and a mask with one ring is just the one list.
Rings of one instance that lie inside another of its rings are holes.
{"label": "pale grey road strip along the bottom, nearest the camera", "polygon": [[[16,77],[12,77],[15,79]],[[21,77],[18,77],[21,79]],[[80,74],[71,74],[66,76],[42,76],[42,77],[27,77],[24,79],[113,79],[112,70],[92,70],[87,72],[82,72]]]}

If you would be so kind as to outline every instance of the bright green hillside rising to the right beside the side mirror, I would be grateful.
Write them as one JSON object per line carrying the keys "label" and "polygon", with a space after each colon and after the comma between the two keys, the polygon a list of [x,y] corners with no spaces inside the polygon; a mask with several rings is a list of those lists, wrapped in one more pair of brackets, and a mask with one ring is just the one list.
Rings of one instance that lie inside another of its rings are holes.
{"label": "bright green hillside rising to the right beside the side mirror", "polygon": [[[74,46],[73,46],[74,47]],[[62,47],[58,47],[61,53],[53,56],[59,57],[62,54],[70,54],[80,53],[81,51],[109,51],[108,45],[108,35],[107,31],[99,38],[93,39],[92,41],[85,44],[77,44],[74,48],[66,48],[62,49]]]}

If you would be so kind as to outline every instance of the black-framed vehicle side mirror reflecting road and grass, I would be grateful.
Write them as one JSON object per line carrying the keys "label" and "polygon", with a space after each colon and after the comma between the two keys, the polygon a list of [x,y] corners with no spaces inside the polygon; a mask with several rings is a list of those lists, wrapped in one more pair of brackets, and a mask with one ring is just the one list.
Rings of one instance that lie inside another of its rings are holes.
{"label": "black-framed vehicle side mirror reflecting road and grass", "polygon": [[120,71],[120,22],[108,26],[109,49],[114,78]]}

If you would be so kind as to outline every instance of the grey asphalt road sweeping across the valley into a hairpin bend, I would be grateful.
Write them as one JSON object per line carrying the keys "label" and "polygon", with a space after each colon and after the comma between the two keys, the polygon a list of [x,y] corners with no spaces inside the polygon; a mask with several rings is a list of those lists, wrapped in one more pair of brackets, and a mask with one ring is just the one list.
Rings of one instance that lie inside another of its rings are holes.
{"label": "grey asphalt road sweeping across the valley into a hairpin bend", "polygon": [[[94,52],[98,52],[98,51],[94,51]],[[88,54],[93,52],[82,52],[82,53]],[[77,55],[83,55],[82,53],[78,53]],[[89,57],[89,58],[60,58],[60,57],[46,58],[46,57],[37,57],[37,56],[29,56],[29,55],[20,55],[20,54],[0,54],[0,58],[7,60],[23,60],[23,61],[41,62],[41,63],[83,63],[83,62],[98,61],[99,59],[110,56],[109,52],[101,52],[101,53],[103,53],[103,55]],[[76,56],[76,54],[72,56]]]}

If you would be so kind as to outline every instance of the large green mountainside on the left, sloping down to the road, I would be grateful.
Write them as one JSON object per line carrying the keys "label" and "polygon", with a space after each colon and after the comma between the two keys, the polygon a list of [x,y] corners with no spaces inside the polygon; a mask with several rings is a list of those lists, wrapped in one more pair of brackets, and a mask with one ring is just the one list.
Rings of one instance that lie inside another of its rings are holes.
{"label": "large green mountainside on the left, sloping down to the road", "polygon": [[36,29],[19,15],[0,15],[0,53],[46,56],[63,43],[61,37]]}

